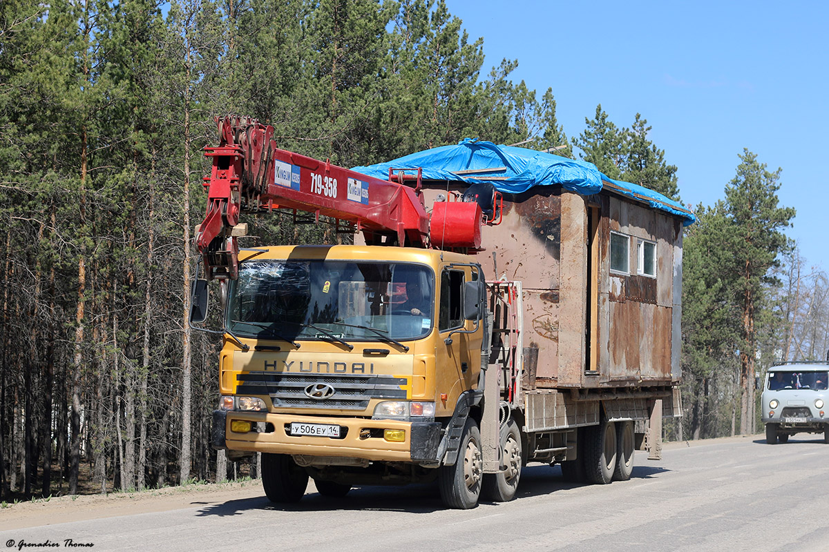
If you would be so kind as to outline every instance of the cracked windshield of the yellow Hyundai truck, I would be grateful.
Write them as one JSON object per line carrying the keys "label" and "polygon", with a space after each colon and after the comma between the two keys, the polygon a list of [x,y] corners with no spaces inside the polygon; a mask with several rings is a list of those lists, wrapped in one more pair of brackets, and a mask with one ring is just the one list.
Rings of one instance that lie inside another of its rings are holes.
{"label": "cracked windshield of the yellow Hyundai truck", "polygon": [[388,341],[429,334],[432,305],[427,266],[256,260],[240,264],[226,315],[230,331],[245,337]]}

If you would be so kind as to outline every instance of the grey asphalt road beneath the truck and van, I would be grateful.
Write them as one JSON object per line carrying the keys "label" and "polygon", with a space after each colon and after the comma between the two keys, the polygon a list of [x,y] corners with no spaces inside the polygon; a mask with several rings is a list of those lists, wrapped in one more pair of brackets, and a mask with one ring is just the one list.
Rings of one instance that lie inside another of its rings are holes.
{"label": "grey asphalt road beneath the truck and van", "polygon": [[[321,497],[309,485],[294,506],[270,504],[258,487],[238,496],[188,496],[162,511],[89,516],[0,531],[0,550],[787,550],[829,551],[829,444],[760,436],[669,444],[660,463],[637,453],[628,482],[562,481],[531,464],[512,502],[445,510],[436,487],[363,487]],[[70,505],[71,506],[71,505]],[[65,507],[65,506],[64,506]],[[152,510],[153,508],[150,508]],[[109,517],[103,517],[109,516]],[[8,518],[11,520],[11,518]],[[39,523],[39,521],[37,521]],[[0,528],[3,513],[0,511]],[[24,546],[54,543],[56,547]]]}

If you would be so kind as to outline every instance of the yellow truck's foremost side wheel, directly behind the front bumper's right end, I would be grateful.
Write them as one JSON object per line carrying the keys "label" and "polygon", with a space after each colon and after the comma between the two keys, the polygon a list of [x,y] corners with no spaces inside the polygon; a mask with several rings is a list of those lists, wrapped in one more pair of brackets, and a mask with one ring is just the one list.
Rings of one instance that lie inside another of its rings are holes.
{"label": "yellow truck's foremost side wheel, directly behind the front bumper's right end", "polygon": [[438,486],[444,504],[458,510],[478,506],[482,473],[481,432],[475,420],[469,418],[463,426],[458,459],[453,466],[438,468]]}

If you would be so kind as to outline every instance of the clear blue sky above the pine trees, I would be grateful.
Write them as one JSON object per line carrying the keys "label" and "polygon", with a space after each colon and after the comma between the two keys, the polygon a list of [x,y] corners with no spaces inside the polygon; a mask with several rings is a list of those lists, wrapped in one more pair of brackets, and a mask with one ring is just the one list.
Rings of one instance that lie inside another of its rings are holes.
{"label": "clear blue sky above the pine trees", "polygon": [[483,37],[482,72],[516,59],[515,82],[553,89],[568,137],[599,103],[620,127],[642,113],[685,204],[725,198],[743,148],[781,167],[780,204],[797,209],[787,234],[829,269],[829,4],[446,2]]}

